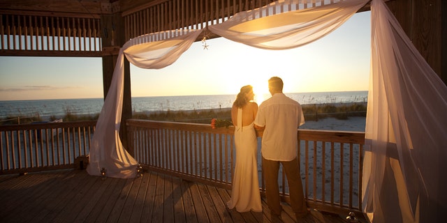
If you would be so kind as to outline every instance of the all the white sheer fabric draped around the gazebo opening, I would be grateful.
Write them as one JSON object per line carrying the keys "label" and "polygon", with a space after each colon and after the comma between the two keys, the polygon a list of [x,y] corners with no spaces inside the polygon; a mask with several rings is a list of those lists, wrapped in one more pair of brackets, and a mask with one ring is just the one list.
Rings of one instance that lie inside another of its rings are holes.
{"label": "all the white sheer fabric draped around the gazebo opening", "polygon": [[[253,47],[290,49],[328,35],[369,0],[312,2],[275,1],[205,29]],[[307,8],[308,3],[314,7]],[[447,89],[383,0],[372,0],[371,10],[362,208],[371,222],[439,222],[447,201],[446,179],[441,177],[447,167],[447,116],[443,114],[447,111]],[[123,55],[140,68],[163,68],[174,63],[202,31],[152,33],[129,40],[122,47],[96,125],[89,174],[100,175],[105,168],[108,176],[135,176],[131,170],[136,169],[137,162],[126,153],[117,134]]]}

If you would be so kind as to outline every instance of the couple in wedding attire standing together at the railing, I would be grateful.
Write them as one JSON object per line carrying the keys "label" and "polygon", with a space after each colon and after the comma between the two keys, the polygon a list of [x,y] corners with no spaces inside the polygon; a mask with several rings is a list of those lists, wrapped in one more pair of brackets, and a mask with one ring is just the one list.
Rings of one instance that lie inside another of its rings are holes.
{"label": "couple in wedding attire standing together at the railing", "polygon": [[261,155],[265,176],[265,194],[272,217],[281,216],[278,174],[283,165],[288,181],[291,207],[297,218],[309,213],[302,191],[297,157],[297,130],[305,123],[300,103],[282,92],[284,83],[279,77],[268,80],[272,97],[258,107],[253,87],[243,86],[233,103],[231,119],[235,123],[236,162],[231,199],[227,206],[238,212],[262,212],[257,171],[258,140],[256,130],[263,130]]}

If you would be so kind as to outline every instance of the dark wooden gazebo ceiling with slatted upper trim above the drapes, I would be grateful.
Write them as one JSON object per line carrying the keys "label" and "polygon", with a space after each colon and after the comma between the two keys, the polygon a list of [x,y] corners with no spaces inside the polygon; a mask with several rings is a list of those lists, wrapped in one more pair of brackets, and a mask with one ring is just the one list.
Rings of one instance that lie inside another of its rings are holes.
{"label": "dark wooden gazebo ceiling with slatted upper trim above the drapes", "polygon": [[1,0],[0,56],[103,56],[135,36],[203,29],[273,1]]}

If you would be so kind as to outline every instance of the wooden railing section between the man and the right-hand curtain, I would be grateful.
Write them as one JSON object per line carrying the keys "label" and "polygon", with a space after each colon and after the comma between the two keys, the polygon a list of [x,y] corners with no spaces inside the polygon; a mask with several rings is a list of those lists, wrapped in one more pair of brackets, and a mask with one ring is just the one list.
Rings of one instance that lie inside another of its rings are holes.
{"label": "wooden railing section between the man and the right-hand curtain", "polygon": [[365,133],[298,130],[298,139],[307,202],[330,213],[360,214]]}

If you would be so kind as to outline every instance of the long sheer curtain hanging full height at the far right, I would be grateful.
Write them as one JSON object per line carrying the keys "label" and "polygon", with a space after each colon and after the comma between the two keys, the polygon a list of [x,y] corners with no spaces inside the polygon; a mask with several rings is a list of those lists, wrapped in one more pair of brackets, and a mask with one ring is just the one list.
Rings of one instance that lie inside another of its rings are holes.
{"label": "long sheer curtain hanging full height at the far right", "polygon": [[363,207],[372,222],[441,222],[447,87],[383,1],[372,1]]}

